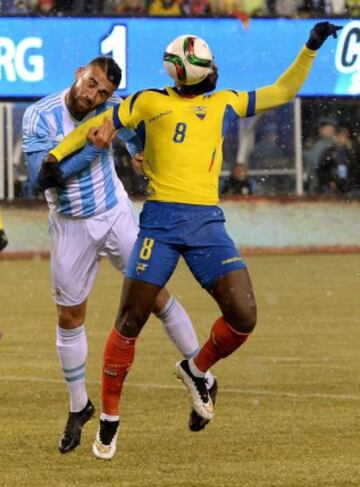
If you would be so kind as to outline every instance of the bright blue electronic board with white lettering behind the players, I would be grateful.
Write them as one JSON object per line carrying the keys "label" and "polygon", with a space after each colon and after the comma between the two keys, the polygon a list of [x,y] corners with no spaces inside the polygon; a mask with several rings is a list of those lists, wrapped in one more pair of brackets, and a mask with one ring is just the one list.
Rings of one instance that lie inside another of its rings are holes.
{"label": "bright blue electronic board with white lettering behind the players", "polygon": [[[360,94],[360,20],[335,19],[339,39],[320,49],[302,96]],[[0,18],[0,99],[33,99],[69,86],[75,71],[112,56],[119,94],[171,84],[162,55],[181,34],[203,37],[219,67],[219,88],[273,83],[306,42],[314,19]]]}

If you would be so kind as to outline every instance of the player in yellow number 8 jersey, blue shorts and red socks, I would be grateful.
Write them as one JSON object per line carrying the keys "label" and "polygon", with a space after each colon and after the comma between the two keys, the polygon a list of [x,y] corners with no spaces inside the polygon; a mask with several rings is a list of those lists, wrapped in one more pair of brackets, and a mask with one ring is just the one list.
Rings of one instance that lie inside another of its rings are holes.
{"label": "player in yellow number 8 jersey, blue shorts and red socks", "polygon": [[[190,85],[180,62],[175,87],[130,96],[120,106],[78,127],[44,162],[50,165],[79,150],[86,143],[89,129],[101,126],[104,117],[112,118],[115,129],[136,129],[144,140],[143,170],[149,179],[150,195],[141,213],[140,232],[127,266],[119,313],[104,354],[103,412],[109,419],[118,415],[136,338],[180,255],[221,311],[198,355],[176,364],[177,376],[188,389],[192,407],[205,422],[212,419],[214,405],[206,388],[205,373],[237,350],[256,324],[249,273],[225,230],[224,215],[217,206],[223,137],[233,118],[249,117],[289,102],[304,83],[316,50],[328,36],[336,37],[339,28],[328,22],[316,24],[306,46],[280,78],[250,92],[212,93],[218,78],[216,65],[213,60],[198,58],[208,67],[208,74]],[[196,38],[185,37],[184,52],[194,56]],[[179,61],[171,53],[165,53],[165,59],[175,64]],[[100,421],[94,454],[112,458],[116,437],[117,428],[111,421]]]}

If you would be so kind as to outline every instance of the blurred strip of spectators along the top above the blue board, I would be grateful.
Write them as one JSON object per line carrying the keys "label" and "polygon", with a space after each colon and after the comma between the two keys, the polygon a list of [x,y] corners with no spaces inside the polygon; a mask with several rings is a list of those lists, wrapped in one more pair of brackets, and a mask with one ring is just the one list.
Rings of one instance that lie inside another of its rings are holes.
{"label": "blurred strip of spectators along the top above the blue board", "polygon": [[360,16],[360,0],[2,0],[2,15]]}

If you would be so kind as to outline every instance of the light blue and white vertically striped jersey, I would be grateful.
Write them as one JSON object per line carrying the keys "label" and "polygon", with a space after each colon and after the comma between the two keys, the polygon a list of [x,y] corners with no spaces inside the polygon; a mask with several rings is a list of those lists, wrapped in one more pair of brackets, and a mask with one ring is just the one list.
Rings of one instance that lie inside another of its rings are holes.
{"label": "light blue and white vertically striped jersey", "polygon": [[[47,96],[29,106],[23,119],[23,151],[27,154],[49,152],[69,132],[85,120],[121,102],[112,95],[81,122],[69,113],[65,96],[68,90]],[[127,129],[120,138],[127,140],[134,132]],[[48,189],[45,197],[50,210],[73,217],[89,217],[114,207],[127,198],[115,172],[112,149],[104,149],[91,165],[67,179],[66,190]]]}

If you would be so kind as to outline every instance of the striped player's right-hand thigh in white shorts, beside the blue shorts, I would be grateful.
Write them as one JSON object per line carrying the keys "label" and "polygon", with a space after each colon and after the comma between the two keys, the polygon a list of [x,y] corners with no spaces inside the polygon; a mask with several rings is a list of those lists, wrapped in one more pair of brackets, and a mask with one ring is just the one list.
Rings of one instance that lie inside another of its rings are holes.
{"label": "striped player's right-hand thigh in white shorts, beside the blue shorts", "polygon": [[132,203],[127,200],[119,205],[102,249],[102,255],[107,255],[117,270],[124,272],[138,233],[138,219]]}

